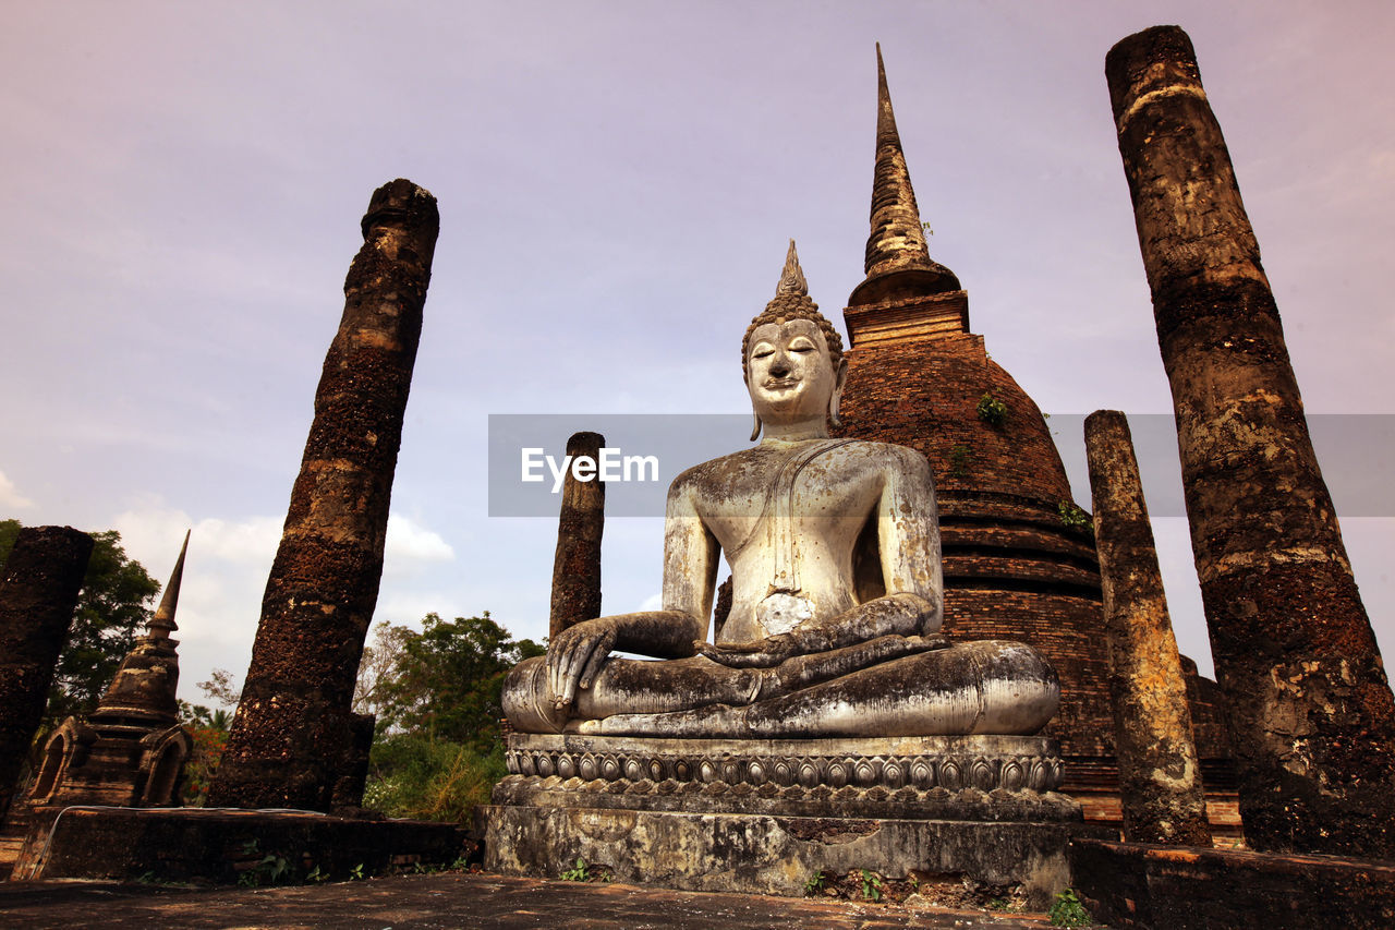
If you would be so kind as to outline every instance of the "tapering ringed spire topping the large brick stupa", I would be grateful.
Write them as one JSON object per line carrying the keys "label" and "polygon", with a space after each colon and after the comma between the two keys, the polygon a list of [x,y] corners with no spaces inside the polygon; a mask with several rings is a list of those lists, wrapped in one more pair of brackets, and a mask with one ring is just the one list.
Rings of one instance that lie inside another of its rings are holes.
{"label": "tapering ringed spire topping the large brick stupa", "polygon": [[852,292],[852,306],[889,296],[925,296],[958,290],[954,272],[930,258],[921,226],[921,211],[905,168],[901,135],[896,128],[891,94],[886,84],[882,45],[876,47],[877,117],[876,169],[872,175],[872,232],[864,271],[866,279]]}

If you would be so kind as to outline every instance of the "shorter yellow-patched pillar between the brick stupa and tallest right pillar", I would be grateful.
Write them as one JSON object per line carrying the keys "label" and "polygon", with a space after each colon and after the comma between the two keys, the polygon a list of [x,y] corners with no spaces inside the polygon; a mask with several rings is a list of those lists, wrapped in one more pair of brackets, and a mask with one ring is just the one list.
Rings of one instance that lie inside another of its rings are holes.
{"label": "shorter yellow-patched pillar between the brick stupa and tallest right pillar", "polygon": [[1124,839],[1209,846],[1187,683],[1124,415],[1095,411],[1085,418],[1085,452],[1105,593]]}

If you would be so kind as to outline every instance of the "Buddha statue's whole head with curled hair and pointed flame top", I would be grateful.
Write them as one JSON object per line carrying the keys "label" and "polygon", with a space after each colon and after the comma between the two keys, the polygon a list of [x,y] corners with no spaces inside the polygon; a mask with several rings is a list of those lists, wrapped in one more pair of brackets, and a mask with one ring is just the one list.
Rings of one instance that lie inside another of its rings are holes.
{"label": "Buddha statue's whole head with curled hair and pointed flame top", "polygon": [[838,399],[847,376],[843,338],[819,306],[809,299],[809,285],[799,268],[794,240],[776,286],[774,300],[746,327],[741,342],[741,367],[755,413],[752,441],[762,423],[820,422],[840,426]]}

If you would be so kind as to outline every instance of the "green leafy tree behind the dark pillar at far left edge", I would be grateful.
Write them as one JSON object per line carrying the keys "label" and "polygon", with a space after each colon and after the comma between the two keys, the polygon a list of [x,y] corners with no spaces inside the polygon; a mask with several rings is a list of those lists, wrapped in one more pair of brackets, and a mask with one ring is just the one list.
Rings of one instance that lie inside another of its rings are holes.
{"label": "green leafy tree behind the dark pillar at far left edge", "polygon": [[[10,557],[20,529],[17,519],[0,521],[0,564]],[[127,557],[119,532],[92,533],[92,559],[82,577],[68,642],[49,691],[45,729],[96,709],[121,659],[149,623],[160,591],[141,563]]]}

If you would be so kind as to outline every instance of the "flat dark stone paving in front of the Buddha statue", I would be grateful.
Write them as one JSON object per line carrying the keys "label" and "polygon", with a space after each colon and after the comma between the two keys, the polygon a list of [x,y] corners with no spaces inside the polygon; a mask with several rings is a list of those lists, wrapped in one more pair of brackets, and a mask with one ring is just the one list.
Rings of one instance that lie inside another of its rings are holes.
{"label": "flat dark stone paving in front of the Buddha statue", "polygon": [[1045,915],[764,898],[513,878],[392,876],[286,888],[177,888],[96,881],[0,883],[4,927],[566,927],[568,930],[926,930],[1050,927]]}

